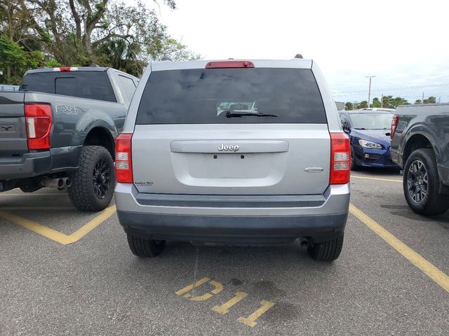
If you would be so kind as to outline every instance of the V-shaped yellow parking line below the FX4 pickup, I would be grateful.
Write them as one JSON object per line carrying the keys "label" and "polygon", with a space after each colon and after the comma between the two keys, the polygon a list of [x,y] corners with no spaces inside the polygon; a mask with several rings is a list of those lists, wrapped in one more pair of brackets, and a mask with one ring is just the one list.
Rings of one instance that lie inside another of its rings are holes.
{"label": "V-shaped yellow parking line below the FX4 pickup", "polygon": [[53,241],[56,241],[60,244],[67,245],[74,243],[75,241],[79,241],[82,237],[95,229],[98,225],[107,220],[110,216],[112,216],[116,211],[115,205],[105,209],[101,214],[93,218],[93,220],[89,221],[81,228],[72,233],[72,235],[65,235],[61,232],[53,230],[51,228],[46,227],[45,225],[41,225],[34,221],[30,221],[27,218],[22,218],[19,216],[15,216],[13,214],[9,214],[6,211],[0,210],[0,218],[4,218],[6,221],[13,222],[18,224],[24,228],[27,228],[30,231],[36,232],[39,235],[47,237]]}

